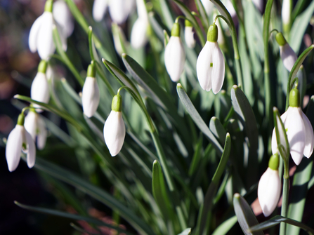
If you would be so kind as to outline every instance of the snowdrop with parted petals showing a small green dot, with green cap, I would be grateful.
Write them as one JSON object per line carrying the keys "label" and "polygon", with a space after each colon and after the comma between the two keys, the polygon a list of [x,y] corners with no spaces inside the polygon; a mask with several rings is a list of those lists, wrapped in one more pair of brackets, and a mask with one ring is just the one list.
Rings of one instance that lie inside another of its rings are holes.
{"label": "snowdrop with parted petals showing a small green dot, with green cap", "polygon": [[196,72],[199,85],[203,90],[213,90],[217,94],[225,77],[225,60],[217,43],[218,27],[213,24],[207,32],[207,42],[199,53],[196,63]]}

